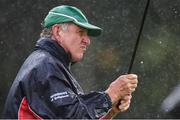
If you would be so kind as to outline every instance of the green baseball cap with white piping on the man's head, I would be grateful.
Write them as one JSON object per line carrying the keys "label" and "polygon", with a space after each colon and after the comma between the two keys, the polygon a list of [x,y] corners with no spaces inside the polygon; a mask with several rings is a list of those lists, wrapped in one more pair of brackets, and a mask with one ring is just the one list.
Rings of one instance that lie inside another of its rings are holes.
{"label": "green baseball cap with white piping on the man's head", "polygon": [[88,30],[89,36],[99,36],[102,29],[88,22],[85,15],[76,7],[62,5],[51,9],[43,21],[43,26],[48,28],[54,24],[73,22]]}

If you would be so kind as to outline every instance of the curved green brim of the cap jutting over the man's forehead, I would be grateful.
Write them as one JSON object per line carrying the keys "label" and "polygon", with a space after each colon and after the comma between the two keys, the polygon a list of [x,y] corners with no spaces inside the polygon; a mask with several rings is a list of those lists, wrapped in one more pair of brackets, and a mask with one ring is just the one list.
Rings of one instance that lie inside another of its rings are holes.
{"label": "curved green brim of the cap jutting over the man's forehead", "polygon": [[100,27],[97,27],[90,23],[82,23],[82,22],[77,22],[77,21],[73,21],[73,22],[80,27],[86,28],[88,30],[89,36],[96,37],[96,36],[101,35],[102,29]]}

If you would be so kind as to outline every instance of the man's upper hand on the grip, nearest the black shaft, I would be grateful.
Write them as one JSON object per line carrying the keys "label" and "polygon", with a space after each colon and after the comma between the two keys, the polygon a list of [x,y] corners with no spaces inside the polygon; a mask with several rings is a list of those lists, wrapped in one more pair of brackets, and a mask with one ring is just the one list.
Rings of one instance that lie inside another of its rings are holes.
{"label": "man's upper hand on the grip, nearest the black shaft", "polygon": [[131,95],[135,91],[137,83],[137,75],[135,74],[121,75],[113,81],[105,91],[110,96],[112,105],[117,105],[119,100],[123,100],[125,96]]}

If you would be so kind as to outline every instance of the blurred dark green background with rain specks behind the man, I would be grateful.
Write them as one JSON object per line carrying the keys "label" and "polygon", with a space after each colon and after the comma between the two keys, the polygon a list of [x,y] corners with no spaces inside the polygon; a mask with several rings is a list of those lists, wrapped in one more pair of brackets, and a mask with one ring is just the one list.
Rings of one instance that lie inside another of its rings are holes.
{"label": "blurred dark green background with rain specks behind the man", "polygon": [[[8,90],[54,6],[80,8],[103,28],[72,71],[86,93],[102,91],[130,64],[146,0],[1,0],[0,113]],[[161,103],[180,82],[180,0],[151,0],[132,73],[139,76],[130,108],[116,118],[163,118]]]}

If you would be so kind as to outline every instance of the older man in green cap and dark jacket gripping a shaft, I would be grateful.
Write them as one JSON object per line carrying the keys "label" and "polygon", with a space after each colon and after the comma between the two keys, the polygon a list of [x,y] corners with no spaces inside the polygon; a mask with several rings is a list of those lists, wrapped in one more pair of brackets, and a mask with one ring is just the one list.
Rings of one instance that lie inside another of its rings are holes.
{"label": "older man in green cap and dark jacket gripping a shaft", "polygon": [[34,51],[26,59],[10,89],[5,118],[111,119],[129,108],[137,76],[118,77],[104,92],[84,94],[70,66],[90,45],[89,36],[101,34],[76,7],[53,8]]}

